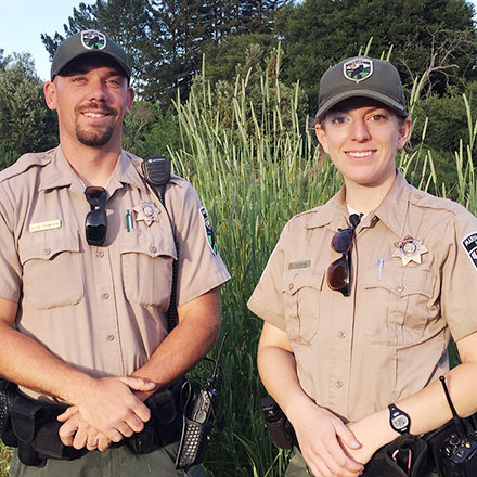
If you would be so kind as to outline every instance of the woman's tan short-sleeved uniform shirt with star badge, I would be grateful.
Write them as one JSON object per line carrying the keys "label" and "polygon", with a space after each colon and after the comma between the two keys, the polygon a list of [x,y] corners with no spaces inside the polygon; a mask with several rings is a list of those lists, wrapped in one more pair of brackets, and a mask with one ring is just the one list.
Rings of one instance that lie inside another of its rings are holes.
{"label": "woman's tan short-sleeved uniform shirt with star badge", "polygon": [[357,421],[447,371],[450,333],[459,340],[477,331],[477,219],[398,173],[357,228],[345,297],[326,271],[340,257],[332,237],[348,225],[344,190],[294,217],[248,307],[286,331],[304,390]]}

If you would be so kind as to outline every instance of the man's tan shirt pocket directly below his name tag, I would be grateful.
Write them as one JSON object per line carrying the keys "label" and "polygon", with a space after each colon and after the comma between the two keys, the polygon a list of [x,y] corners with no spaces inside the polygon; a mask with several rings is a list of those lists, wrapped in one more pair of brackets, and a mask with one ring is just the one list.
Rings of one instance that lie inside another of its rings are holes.
{"label": "man's tan shirt pocket directly below his name tag", "polygon": [[27,234],[18,241],[23,295],[37,309],[79,304],[85,280],[77,231],[64,229]]}

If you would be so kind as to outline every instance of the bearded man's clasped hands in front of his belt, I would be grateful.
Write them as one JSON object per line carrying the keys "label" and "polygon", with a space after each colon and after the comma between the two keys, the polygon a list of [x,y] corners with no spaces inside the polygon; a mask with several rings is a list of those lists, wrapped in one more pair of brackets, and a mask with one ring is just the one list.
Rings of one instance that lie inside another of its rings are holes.
{"label": "bearded man's clasped hands in front of his belt", "polygon": [[149,408],[134,395],[155,390],[155,384],[132,376],[94,379],[57,420],[60,439],[75,449],[104,451],[112,442],[143,429]]}

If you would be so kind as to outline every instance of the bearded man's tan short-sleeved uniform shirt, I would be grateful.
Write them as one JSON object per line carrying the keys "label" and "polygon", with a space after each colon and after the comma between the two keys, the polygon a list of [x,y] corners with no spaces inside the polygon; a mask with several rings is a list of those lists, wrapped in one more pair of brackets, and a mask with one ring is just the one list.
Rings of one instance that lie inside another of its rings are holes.
{"label": "bearded man's tan short-sleeved uniform shirt", "polygon": [[[192,186],[172,178],[165,194],[169,221],[139,164],[120,154],[106,186],[101,247],[86,241],[91,208],[61,147],[22,156],[0,172],[0,298],[18,301],[22,333],[98,377],[132,373],[167,335],[177,258],[171,222],[180,250],[179,306],[230,279],[207,241]],[[143,204],[157,210],[150,224],[134,210]]]}

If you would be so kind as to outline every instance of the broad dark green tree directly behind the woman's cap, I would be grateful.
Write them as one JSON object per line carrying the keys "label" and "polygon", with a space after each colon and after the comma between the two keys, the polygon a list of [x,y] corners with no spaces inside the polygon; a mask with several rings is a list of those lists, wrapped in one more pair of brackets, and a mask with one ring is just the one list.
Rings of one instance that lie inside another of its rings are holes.
{"label": "broad dark green tree directly behind the woman's cap", "polygon": [[275,34],[283,38],[287,80],[301,81],[311,105],[325,69],[358,54],[371,37],[372,56],[392,46],[404,83],[428,72],[423,92],[442,94],[475,75],[473,15],[465,0],[305,0],[281,12]]}

